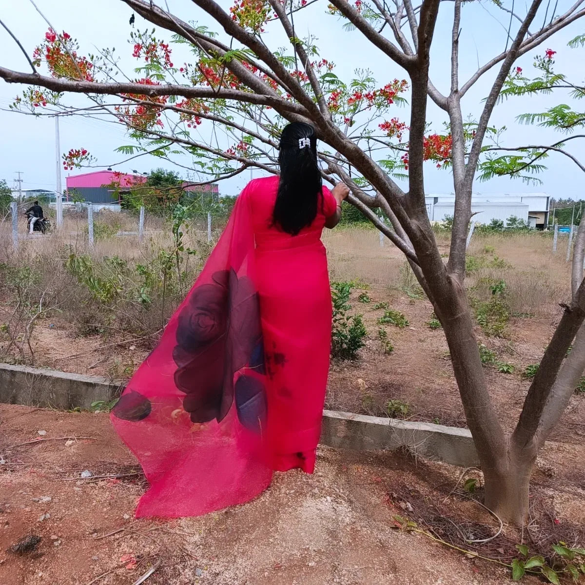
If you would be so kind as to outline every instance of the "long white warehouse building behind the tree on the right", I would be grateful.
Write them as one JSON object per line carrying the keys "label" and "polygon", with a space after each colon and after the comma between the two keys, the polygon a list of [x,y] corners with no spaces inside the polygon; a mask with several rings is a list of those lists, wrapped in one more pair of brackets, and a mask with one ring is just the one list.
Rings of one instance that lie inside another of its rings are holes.
{"label": "long white warehouse building behind the tree on the right", "polygon": [[[440,222],[455,213],[454,193],[425,196],[426,212],[432,222]],[[512,216],[531,228],[545,229],[548,224],[550,197],[546,193],[473,193],[472,221],[486,225],[493,219],[507,223]]]}

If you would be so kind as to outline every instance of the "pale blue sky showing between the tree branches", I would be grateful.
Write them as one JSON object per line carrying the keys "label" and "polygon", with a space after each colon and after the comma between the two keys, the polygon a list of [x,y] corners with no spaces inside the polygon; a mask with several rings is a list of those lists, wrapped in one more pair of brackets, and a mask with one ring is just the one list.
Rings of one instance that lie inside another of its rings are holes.
{"label": "pale blue sky showing between the tree branches", "polygon": [[[132,28],[129,18],[132,10],[121,0],[100,0],[100,2],[63,2],[63,0],[36,0],[35,4],[44,16],[59,30],[65,30],[77,37],[80,42],[80,54],[95,52],[97,48],[115,47],[116,53],[121,56],[122,69],[128,73],[136,67],[136,60],[132,58],[132,44],[129,43],[129,33]],[[167,0],[171,12],[185,21],[197,21],[199,24],[219,30],[218,25],[189,0]],[[219,0],[219,4],[228,9],[232,4]],[[368,68],[373,71],[374,77],[380,86],[394,78],[407,78],[405,72],[394,64],[388,57],[373,47],[361,33],[342,29],[343,22],[334,16],[326,16],[327,0],[319,0],[309,6],[306,11],[295,16],[295,26],[298,36],[310,33],[316,37],[316,44],[320,49],[320,56],[336,64],[335,73],[343,80],[349,80],[357,68]],[[518,4],[518,3],[517,3]],[[522,3],[523,4],[523,3]],[[546,3],[543,2],[543,5]],[[164,5],[164,4],[163,4]],[[504,5],[511,2],[504,1]],[[569,2],[559,0],[557,13],[565,12]],[[541,23],[544,10],[536,19]],[[439,19],[433,38],[431,53],[431,78],[439,90],[446,93],[450,84],[450,50],[451,26],[453,7],[451,2],[443,2],[439,12]],[[550,15],[549,15],[550,18]],[[29,0],[12,2],[0,0],[0,19],[18,37],[29,54],[43,39],[48,26],[42,16],[35,10]],[[523,68],[524,73],[530,75],[534,70],[532,63],[535,54],[543,54],[545,49],[557,51],[555,55],[556,70],[570,75],[574,82],[583,82],[585,78],[585,49],[569,49],[567,42],[583,32],[585,20],[573,23],[560,33],[547,40],[538,49],[521,57],[515,64]],[[264,42],[273,50],[285,43],[281,29],[269,26],[263,36]],[[504,13],[498,12],[491,2],[473,2],[463,5],[462,26],[460,34],[460,80],[466,80],[476,71],[478,63],[483,64],[503,49],[507,36],[508,20]],[[515,24],[512,24],[512,32]],[[145,29],[152,27],[140,16],[136,15],[135,27]],[[157,31],[157,37],[168,39],[169,33]],[[222,33],[220,38],[226,41]],[[227,40],[229,44],[229,39]],[[181,54],[181,49],[175,49],[173,60],[175,64],[187,60],[187,54]],[[19,71],[29,71],[29,66],[18,46],[9,37],[8,33],[0,28],[0,64]],[[484,75],[463,99],[463,113],[479,116],[482,100],[488,94],[493,82],[495,70]],[[0,179],[4,178],[9,185],[13,185],[16,171],[22,172],[23,188],[44,188],[53,190],[56,187],[56,146],[55,123],[53,118],[37,118],[19,113],[7,112],[5,108],[20,94],[23,87],[16,84],[7,84],[0,80]],[[81,103],[81,97],[67,98],[68,104]],[[507,126],[502,143],[507,146],[520,144],[549,144],[559,140],[562,136],[552,130],[538,129],[533,126],[518,125],[516,116],[523,112],[543,111],[551,105],[572,103],[568,94],[557,92],[549,97],[513,98],[499,104],[491,119],[495,126]],[[390,116],[397,115],[408,121],[408,110],[398,108]],[[445,121],[445,112],[439,110],[429,100],[427,115],[431,129],[441,132]],[[156,157],[142,157],[128,163],[121,163],[126,157],[116,153],[115,149],[123,144],[132,143],[121,126],[105,121],[94,121],[80,117],[67,117],[60,122],[60,152],[67,152],[71,148],[85,148],[97,158],[98,168],[111,166],[122,172],[141,173],[154,167],[173,168],[170,163]],[[585,160],[585,142],[580,146],[579,140],[574,140],[569,147],[580,160]],[[183,157],[178,159],[180,164],[189,166],[190,161]],[[163,163],[163,164],[161,164]],[[519,180],[497,178],[487,183],[476,181],[474,190],[483,193],[494,192],[530,192],[545,191],[555,198],[585,198],[583,185],[585,183],[583,171],[572,161],[561,154],[553,154],[546,161],[548,170],[539,176],[542,185],[526,185]],[[59,161],[59,168],[62,164]],[[98,168],[61,171],[63,186],[68,173],[78,174]],[[177,169],[181,173],[184,170]],[[255,170],[253,176],[261,176],[263,171]],[[220,190],[225,195],[236,195],[249,180],[249,174],[223,181]],[[452,176],[449,171],[437,170],[433,163],[425,166],[426,192],[439,193],[453,191]],[[405,185],[401,185],[405,187]]]}

